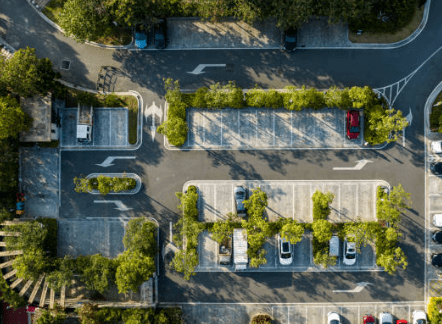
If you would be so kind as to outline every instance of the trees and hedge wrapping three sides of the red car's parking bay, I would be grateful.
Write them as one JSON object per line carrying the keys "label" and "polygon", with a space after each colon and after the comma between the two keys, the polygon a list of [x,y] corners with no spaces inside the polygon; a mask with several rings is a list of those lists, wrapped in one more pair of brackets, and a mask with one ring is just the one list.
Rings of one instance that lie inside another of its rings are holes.
{"label": "trees and hedge wrapping three sides of the red car's parking bay", "polygon": [[[168,104],[167,120],[158,128],[158,132],[165,134],[169,143],[176,147],[185,145],[188,140],[189,126],[186,109],[190,107],[199,109],[272,108],[285,109],[294,114],[303,109],[362,110],[364,139],[370,145],[396,141],[397,133],[408,125],[400,111],[396,112],[388,107],[385,100],[379,99],[368,86],[350,89],[332,87],[326,91],[307,89],[305,86],[301,88],[287,86],[283,90],[255,88],[243,91],[234,82],[229,82],[225,86],[217,83],[210,88],[199,88],[194,93],[182,93],[178,81],[167,79],[165,89]],[[324,126],[319,125],[319,127]]]}

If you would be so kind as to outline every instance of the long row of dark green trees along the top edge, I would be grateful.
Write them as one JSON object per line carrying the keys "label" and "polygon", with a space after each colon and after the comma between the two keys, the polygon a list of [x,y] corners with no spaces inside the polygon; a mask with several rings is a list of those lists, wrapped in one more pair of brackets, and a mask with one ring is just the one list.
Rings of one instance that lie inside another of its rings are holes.
{"label": "long row of dark green trees along the top edge", "polygon": [[[299,27],[313,16],[328,16],[330,22],[348,21],[353,28],[393,31],[410,21],[416,4],[416,0],[67,0],[58,23],[80,42],[109,35],[114,22],[149,26],[155,17],[166,16],[212,21],[233,16],[248,23],[275,18],[282,29]],[[388,19],[380,23],[379,12]]]}

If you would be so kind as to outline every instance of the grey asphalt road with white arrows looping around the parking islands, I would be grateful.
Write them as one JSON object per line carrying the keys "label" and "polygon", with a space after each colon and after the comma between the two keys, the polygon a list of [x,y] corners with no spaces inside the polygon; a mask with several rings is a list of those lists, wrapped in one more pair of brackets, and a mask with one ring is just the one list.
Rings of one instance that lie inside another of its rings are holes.
{"label": "grey asphalt road with white arrows looping around the parking islands", "polygon": [[[18,1],[18,2],[17,2]],[[24,0],[1,0],[0,36],[14,47],[36,47],[55,66],[72,61],[63,79],[94,88],[101,66],[121,68],[131,78],[120,78],[115,90],[139,91],[146,104],[162,102],[162,78],[179,79],[184,89],[195,89],[213,82],[237,80],[244,88],[259,83],[281,88],[287,84],[328,88],[353,85],[381,87],[402,79],[418,68],[442,45],[440,12],[442,2],[434,1],[429,21],[422,34],[407,46],[395,50],[302,50],[288,55],[277,50],[262,51],[113,51],[76,44],[63,38],[40,20]],[[19,5],[18,5],[19,3]],[[118,217],[112,206],[94,204],[95,197],[72,192],[72,178],[80,173],[102,171],[108,155],[135,155],[136,160],[118,161],[106,172],[121,170],[139,174],[145,190],[121,200],[133,210],[127,216],[151,215],[159,219],[163,238],[169,221],[176,221],[178,201],[174,192],[189,180],[266,179],[382,179],[392,185],[402,183],[413,197],[413,208],[403,216],[405,240],[402,247],[409,256],[407,271],[386,273],[261,273],[198,274],[189,282],[181,275],[160,277],[160,302],[346,302],[424,300],[424,154],[423,107],[426,98],[442,75],[442,53],[437,52],[408,82],[395,106],[413,112],[413,124],[406,132],[406,146],[389,145],[382,151],[194,151],[165,150],[162,136],[150,140],[147,127],[143,146],[134,152],[61,153],[62,218]],[[208,69],[192,76],[200,63],[230,63],[233,71]],[[402,140],[402,139],[401,139]],[[400,141],[401,141],[400,140]],[[332,171],[337,166],[352,166],[355,161],[373,163],[362,171]],[[164,270],[164,269],[163,269]],[[164,272],[163,272],[164,273]],[[332,290],[353,289],[355,282],[372,286],[359,294],[336,294]],[[314,291],[315,293],[312,293]],[[410,292],[413,292],[412,294]]]}

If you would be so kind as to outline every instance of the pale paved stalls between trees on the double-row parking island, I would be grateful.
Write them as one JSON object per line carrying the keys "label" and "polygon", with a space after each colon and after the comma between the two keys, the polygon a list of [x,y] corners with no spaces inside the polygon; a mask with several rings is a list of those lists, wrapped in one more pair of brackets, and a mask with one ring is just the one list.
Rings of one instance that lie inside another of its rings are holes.
{"label": "pale paved stalls between trees on the double-row parking island", "polygon": [[[234,212],[233,189],[242,185],[249,191],[260,187],[268,195],[266,209],[269,221],[279,217],[290,217],[301,223],[312,222],[311,196],[316,190],[330,191],[335,195],[331,204],[332,222],[354,220],[376,220],[376,188],[389,186],[382,180],[372,181],[190,181],[185,184],[198,187],[199,221],[214,222],[227,219],[229,212]],[[313,263],[312,236],[306,232],[301,242],[293,245],[293,262],[291,265],[281,265],[278,256],[277,236],[271,237],[264,244],[267,251],[265,265],[258,269],[248,267],[246,271],[256,272],[304,272],[304,271],[380,271],[376,266],[374,247],[361,247],[361,253],[356,256],[356,264],[346,266],[338,258],[336,266],[324,269]],[[342,244],[341,244],[342,249]],[[199,236],[199,265],[197,272],[234,271],[233,265],[218,263],[218,243],[213,241],[210,233],[203,232]]]}

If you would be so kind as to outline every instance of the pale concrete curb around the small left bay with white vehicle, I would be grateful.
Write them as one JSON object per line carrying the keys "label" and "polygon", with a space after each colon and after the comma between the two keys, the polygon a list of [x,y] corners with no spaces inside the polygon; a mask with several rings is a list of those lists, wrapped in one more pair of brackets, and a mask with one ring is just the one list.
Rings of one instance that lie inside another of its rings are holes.
{"label": "pale concrete curb around the small left bay with white vehicle", "polygon": [[90,93],[95,94],[111,94],[115,93],[117,95],[126,95],[126,96],[134,96],[137,99],[138,102],[138,127],[137,127],[137,142],[133,145],[128,146],[119,146],[119,147],[95,147],[95,148],[88,148],[88,147],[77,147],[77,146],[71,146],[71,147],[62,147],[60,150],[62,151],[77,151],[77,150],[84,150],[84,151],[96,151],[96,150],[107,150],[107,151],[120,151],[120,150],[127,150],[127,151],[135,151],[138,150],[141,145],[143,144],[143,119],[141,118],[141,111],[143,110],[143,97],[135,90],[128,90],[127,92],[100,92],[98,90],[88,89],[81,86],[75,86],[70,82],[67,82],[65,80],[57,80],[61,84],[64,84],[65,86],[81,91],[86,91]]}

